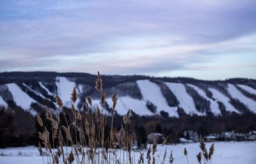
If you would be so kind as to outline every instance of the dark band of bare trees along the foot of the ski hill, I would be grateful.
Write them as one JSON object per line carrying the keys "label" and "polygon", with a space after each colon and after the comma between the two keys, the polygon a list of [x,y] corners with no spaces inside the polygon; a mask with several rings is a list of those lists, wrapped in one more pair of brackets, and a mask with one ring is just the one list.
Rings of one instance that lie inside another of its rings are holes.
{"label": "dark band of bare trees along the foot of the ski hill", "polygon": [[[15,107],[15,109],[6,110],[1,107],[0,109],[0,147],[19,147],[25,145],[38,144],[38,131],[40,126],[36,123],[35,117],[32,117],[28,112]],[[74,118],[70,109],[65,108],[67,120],[70,124],[72,134],[75,134],[75,127],[72,127]],[[84,123],[88,118],[88,112],[81,113]],[[93,116],[95,116],[93,114]],[[45,119],[45,113],[41,114],[45,126],[51,127],[51,123]],[[61,120],[64,121],[63,115],[60,115]],[[123,116],[114,116],[114,131],[118,133],[123,122]],[[111,119],[108,117],[106,125],[106,137],[110,130]],[[64,123],[63,123],[64,124]],[[255,114],[236,114],[226,113],[223,116],[189,116],[180,115],[177,117],[164,117],[163,116],[138,116],[132,114],[131,124],[129,125],[131,131],[136,131],[136,140],[141,143],[147,142],[147,135],[149,133],[162,133],[164,136],[169,135],[168,142],[175,143],[180,137],[184,137],[184,131],[196,131],[203,137],[210,133],[221,133],[223,131],[232,131],[235,133],[248,133],[249,131],[256,130],[256,116]],[[97,130],[97,128],[96,128]],[[51,135],[51,131],[50,135]],[[74,132],[74,133],[73,133]],[[75,136],[73,136],[75,137]],[[106,139],[106,138],[105,138]],[[67,143],[68,144],[68,143]]]}

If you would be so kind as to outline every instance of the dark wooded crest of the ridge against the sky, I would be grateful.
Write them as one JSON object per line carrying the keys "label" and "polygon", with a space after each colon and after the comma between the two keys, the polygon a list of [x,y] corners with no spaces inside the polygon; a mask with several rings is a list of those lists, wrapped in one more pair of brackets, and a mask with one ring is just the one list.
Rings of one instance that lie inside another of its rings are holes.
{"label": "dark wooded crest of the ridge against the sky", "polygon": [[[77,84],[88,84],[93,86],[95,84],[94,80],[96,75],[90,73],[77,73],[77,72],[67,72],[58,73],[53,71],[13,71],[13,72],[2,72],[0,73],[0,85],[8,84],[13,82],[27,82],[29,80],[36,80],[37,82],[55,82],[56,77],[67,77],[73,78],[74,82]],[[188,77],[149,77],[145,75],[102,75],[104,78],[104,88],[111,86],[116,86],[123,82],[134,82],[136,80],[161,80],[163,82],[179,82],[186,84],[208,84],[215,85],[217,83],[231,83],[231,84],[246,84],[253,88],[256,88],[256,80],[249,78],[230,78],[227,80],[198,80],[195,78]]]}

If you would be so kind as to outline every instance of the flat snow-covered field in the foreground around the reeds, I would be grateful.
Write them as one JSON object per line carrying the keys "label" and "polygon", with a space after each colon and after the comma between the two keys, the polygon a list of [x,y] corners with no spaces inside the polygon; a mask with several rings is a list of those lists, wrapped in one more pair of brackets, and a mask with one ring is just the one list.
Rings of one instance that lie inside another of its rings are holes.
{"label": "flat snow-covered field in the foreground around the reeds", "polygon": [[[209,149],[212,143],[206,143]],[[183,154],[184,148],[188,150],[188,160],[190,164],[198,163],[196,160],[196,154],[200,151],[198,143],[192,144],[177,144],[167,145],[168,156],[170,152],[173,152],[173,163],[183,164],[187,163],[186,157]],[[164,154],[164,149],[161,152],[160,159]],[[157,147],[157,153],[159,154],[161,145]],[[146,156],[147,152],[143,152]],[[139,154],[139,153],[138,153]],[[212,156],[212,164],[255,164],[256,163],[256,142],[216,142],[215,151]],[[45,161],[46,161],[46,157]],[[136,155],[138,158],[138,155]],[[136,160],[137,161],[137,160]],[[18,148],[6,148],[0,149],[0,164],[30,164],[30,163],[43,163],[42,156],[36,147],[18,147]],[[168,163],[166,158],[165,163]]]}

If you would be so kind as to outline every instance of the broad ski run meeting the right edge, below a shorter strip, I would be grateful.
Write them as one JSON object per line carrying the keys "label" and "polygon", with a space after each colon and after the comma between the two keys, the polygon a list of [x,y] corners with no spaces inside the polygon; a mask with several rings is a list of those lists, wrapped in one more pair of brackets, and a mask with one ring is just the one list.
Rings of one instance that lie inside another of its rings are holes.
{"label": "broad ski run meeting the right edge, below a shorter strip", "polygon": [[241,101],[246,107],[248,107],[252,112],[256,113],[256,102],[253,101],[252,99],[244,96],[240,91],[233,85],[233,84],[228,84],[228,93],[230,96],[233,98],[236,98],[237,100]]}

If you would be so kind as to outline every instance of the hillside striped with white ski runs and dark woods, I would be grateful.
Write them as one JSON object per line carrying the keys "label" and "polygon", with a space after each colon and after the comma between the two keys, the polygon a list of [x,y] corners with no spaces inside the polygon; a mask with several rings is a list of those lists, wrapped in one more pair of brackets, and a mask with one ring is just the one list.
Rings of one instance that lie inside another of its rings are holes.
{"label": "hillside striped with white ski runs and dark woods", "polygon": [[[96,77],[92,77],[92,75],[90,78],[61,75],[47,77],[47,80],[36,77],[36,80],[17,79],[17,81],[13,77],[14,80],[10,83],[1,82],[0,105],[3,107],[16,105],[35,116],[40,112],[38,106],[58,110],[58,106],[54,102],[54,96],[58,94],[63,100],[64,106],[70,108],[72,104],[70,94],[76,87],[77,110],[85,110],[86,96],[92,96],[93,108],[95,108],[97,105],[100,106],[100,94],[94,89]],[[165,112],[170,117],[179,117],[178,109],[186,114],[198,116],[206,115],[207,112],[217,116],[221,115],[223,111],[256,113],[256,84],[254,80],[250,83],[246,80],[238,80],[236,84],[225,81],[205,82],[187,78],[175,80],[137,76],[102,76],[102,80],[107,102],[104,111],[107,114],[110,114],[109,108],[112,107],[111,94],[115,92],[118,93],[116,113],[120,115],[124,115],[128,109],[141,116],[161,115]],[[169,101],[172,100],[177,103],[170,105]],[[201,106],[206,109],[199,110]]]}

